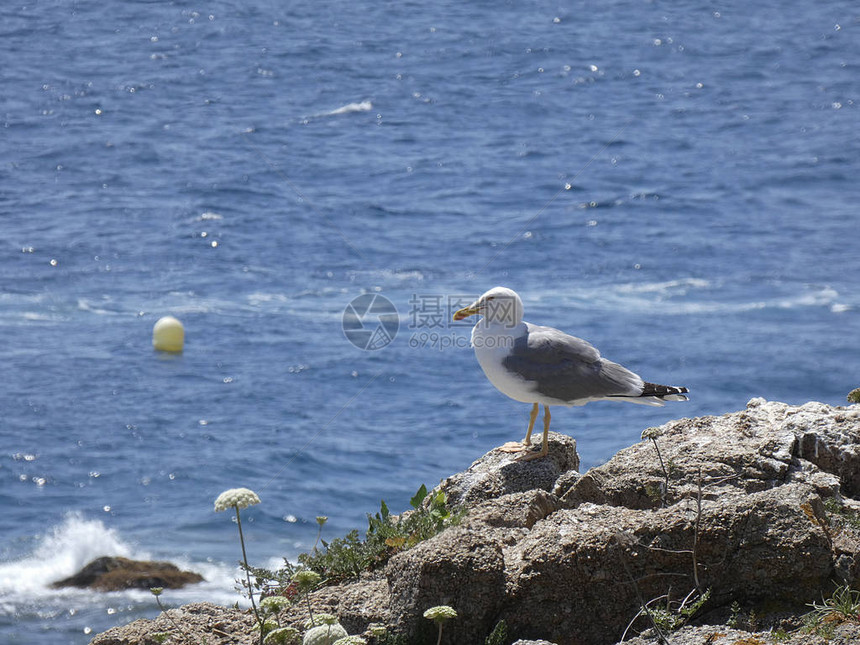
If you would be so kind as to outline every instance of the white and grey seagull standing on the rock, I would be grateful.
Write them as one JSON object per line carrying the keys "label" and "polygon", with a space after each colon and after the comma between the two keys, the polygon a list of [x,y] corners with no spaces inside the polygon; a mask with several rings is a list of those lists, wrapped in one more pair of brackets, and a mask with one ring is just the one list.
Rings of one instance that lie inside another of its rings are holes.
{"label": "white and grey seagull standing on the rock", "polygon": [[544,406],[543,446],[520,459],[549,452],[549,406],[585,405],[591,401],[628,401],[664,405],[686,401],[685,387],[643,381],[626,367],[601,358],[587,341],[552,327],[523,320],[523,301],[512,289],[493,287],[454,320],[480,315],[472,328],[472,347],[484,374],[497,390],[515,401],[533,403],[526,438],[501,446],[504,452],[531,451],[531,436],[540,404]]}

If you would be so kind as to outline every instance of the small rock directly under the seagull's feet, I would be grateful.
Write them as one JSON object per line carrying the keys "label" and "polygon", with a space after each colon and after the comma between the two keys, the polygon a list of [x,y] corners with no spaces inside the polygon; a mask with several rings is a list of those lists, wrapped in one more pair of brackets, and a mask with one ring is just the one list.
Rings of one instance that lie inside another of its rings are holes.
{"label": "small rock directly under the seagull's feet", "polygon": [[498,449],[488,452],[440,485],[452,506],[471,506],[508,493],[541,489],[552,491],[556,480],[579,469],[576,440],[549,433],[549,455],[534,461],[517,461],[517,455]]}

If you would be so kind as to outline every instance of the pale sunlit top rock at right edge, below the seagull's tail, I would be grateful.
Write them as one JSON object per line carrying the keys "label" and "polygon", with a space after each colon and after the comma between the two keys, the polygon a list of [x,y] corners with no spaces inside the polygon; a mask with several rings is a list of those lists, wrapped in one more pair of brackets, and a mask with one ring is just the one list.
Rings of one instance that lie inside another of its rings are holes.
{"label": "pale sunlit top rock at right edge, below the seagull's tail", "polygon": [[642,434],[580,477],[562,504],[653,509],[696,495],[700,483],[711,498],[792,482],[825,496],[838,494],[840,484],[848,496],[860,492],[860,408],[753,399],[740,412],[679,419]]}

